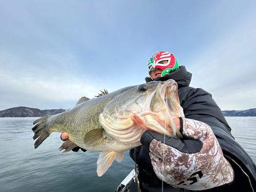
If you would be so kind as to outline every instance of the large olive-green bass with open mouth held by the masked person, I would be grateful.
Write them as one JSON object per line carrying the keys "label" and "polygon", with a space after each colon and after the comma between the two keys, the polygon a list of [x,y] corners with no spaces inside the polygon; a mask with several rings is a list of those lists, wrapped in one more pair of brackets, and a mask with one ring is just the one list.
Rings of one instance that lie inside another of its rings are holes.
{"label": "large olive-green bass with open mouth held by the masked person", "polygon": [[103,152],[97,160],[101,177],[114,159],[121,162],[124,151],[135,148],[141,135],[152,130],[168,137],[182,138],[173,118],[184,117],[173,79],[125,87],[98,97],[81,97],[69,111],[41,117],[33,122],[37,148],[52,132],[67,132],[69,139],[59,151],[67,153],[79,146]]}

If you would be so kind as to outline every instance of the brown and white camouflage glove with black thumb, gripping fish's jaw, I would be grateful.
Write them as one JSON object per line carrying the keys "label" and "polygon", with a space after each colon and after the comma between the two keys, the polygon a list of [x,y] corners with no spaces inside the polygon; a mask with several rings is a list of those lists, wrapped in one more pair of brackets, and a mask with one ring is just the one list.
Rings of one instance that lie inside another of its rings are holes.
{"label": "brown and white camouflage glove with black thumb, gripping fish's jaw", "polygon": [[231,183],[233,169],[209,125],[192,119],[180,120],[183,140],[153,131],[146,131],[141,136],[157,177],[173,187],[188,190],[205,190]]}

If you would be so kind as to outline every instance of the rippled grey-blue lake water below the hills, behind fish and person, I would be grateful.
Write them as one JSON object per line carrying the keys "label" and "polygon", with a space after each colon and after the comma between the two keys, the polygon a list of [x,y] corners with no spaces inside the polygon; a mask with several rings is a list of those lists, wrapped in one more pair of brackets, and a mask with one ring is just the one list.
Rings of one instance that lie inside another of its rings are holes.
{"label": "rippled grey-blue lake water below the hills, behind fish and person", "polygon": [[[114,191],[134,162],[125,152],[97,177],[99,153],[58,151],[60,133],[52,133],[34,149],[31,128],[37,118],[0,118],[0,191]],[[232,134],[256,163],[256,117],[226,117]]]}

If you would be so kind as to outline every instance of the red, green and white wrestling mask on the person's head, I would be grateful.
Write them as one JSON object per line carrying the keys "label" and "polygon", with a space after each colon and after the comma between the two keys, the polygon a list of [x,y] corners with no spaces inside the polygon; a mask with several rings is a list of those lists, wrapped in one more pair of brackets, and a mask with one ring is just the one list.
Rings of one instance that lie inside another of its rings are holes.
{"label": "red, green and white wrestling mask on the person's head", "polygon": [[[167,63],[162,64],[161,61],[167,60]],[[163,70],[162,77],[172,73],[179,67],[177,59],[172,53],[165,51],[158,51],[147,62],[148,73],[155,69],[159,68]],[[150,76],[151,77],[151,76]],[[151,77],[152,78],[152,77]]]}

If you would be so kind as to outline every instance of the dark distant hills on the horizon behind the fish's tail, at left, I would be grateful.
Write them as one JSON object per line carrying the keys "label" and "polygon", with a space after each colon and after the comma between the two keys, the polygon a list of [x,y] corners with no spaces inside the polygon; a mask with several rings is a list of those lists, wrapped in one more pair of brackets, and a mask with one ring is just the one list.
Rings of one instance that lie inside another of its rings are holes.
{"label": "dark distant hills on the horizon behind the fish's tail, at left", "polygon": [[47,115],[55,115],[67,110],[39,110],[36,108],[27,108],[26,106],[18,106],[0,111],[0,117],[44,117]]}

